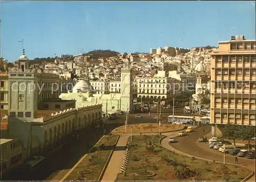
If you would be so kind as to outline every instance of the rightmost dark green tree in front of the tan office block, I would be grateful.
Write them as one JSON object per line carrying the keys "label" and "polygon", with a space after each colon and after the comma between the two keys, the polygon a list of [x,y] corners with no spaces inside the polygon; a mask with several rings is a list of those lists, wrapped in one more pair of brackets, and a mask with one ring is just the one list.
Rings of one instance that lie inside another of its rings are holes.
{"label": "rightmost dark green tree in front of the tan office block", "polygon": [[250,151],[250,141],[255,137],[255,126],[240,126],[239,134],[241,140],[248,141],[248,151]]}

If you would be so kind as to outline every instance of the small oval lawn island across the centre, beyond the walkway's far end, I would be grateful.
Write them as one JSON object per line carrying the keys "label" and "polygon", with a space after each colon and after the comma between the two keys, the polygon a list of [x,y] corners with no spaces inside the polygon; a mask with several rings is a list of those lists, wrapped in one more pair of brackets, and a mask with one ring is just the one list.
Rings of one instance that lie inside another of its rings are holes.
{"label": "small oval lawn island across the centre, beyond the walkway's far end", "polygon": [[[161,132],[171,132],[180,129],[184,129],[185,125],[173,125],[173,124],[161,124]],[[126,132],[131,133],[158,133],[159,124],[145,123],[145,124],[133,124],[126,126]],[[113,133],[124,133],[125,127],[121,126],[114,130]]]}

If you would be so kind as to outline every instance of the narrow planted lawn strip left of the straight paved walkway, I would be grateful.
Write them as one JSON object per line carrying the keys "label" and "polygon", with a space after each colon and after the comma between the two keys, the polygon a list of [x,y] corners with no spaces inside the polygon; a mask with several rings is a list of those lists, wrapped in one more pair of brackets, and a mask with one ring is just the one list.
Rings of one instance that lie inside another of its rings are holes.
{"label": "narrow planted lawn strip left of the straight paved walkway", "polygon": [[65,180],[98,180],[117,139],[118,135],[105,135]]}

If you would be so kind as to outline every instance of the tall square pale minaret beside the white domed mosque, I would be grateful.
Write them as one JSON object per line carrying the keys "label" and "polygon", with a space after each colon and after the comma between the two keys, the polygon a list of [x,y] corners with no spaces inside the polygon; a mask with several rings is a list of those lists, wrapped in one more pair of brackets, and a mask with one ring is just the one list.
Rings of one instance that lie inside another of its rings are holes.
{"label": "tall square pale minaret beside the white domed mosque", "polygon": [[121,69],[121,110],[133,110],[133,71],[130,69],[130,59]]}

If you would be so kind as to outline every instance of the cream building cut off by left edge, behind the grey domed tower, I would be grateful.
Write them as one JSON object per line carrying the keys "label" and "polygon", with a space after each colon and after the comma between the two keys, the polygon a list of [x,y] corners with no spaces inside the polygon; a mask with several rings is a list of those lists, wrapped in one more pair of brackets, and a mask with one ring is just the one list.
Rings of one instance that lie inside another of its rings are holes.
{"label": "cream building cut off by left edge, behind the grey domed tower", "polygon": [[0,87],[0,101],[1,109],[8,109],[8,73],[0,72],[1,77],[1,87]]}

